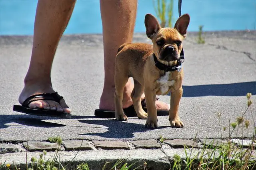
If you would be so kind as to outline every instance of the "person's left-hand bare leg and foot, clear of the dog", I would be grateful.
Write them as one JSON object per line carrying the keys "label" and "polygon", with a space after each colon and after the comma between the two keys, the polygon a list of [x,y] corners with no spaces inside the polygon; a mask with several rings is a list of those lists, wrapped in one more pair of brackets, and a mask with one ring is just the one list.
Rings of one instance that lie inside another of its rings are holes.
{"label": "person's left-hand bare leg and foot, clear of the dog", "polygon": [[[30,65],[24,79],[24,89],[19,97],[22,104],[29,96],[39,93],[54,93],[51,82],[52,61],[58,42],[69,22],[75,0],[39,0],[34,24],[34,39]],[[32,109],[46,109],[70,113],[64,99],[34,101]]]}

